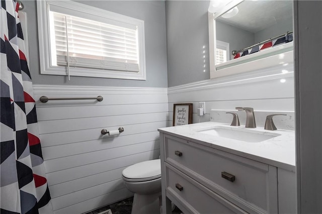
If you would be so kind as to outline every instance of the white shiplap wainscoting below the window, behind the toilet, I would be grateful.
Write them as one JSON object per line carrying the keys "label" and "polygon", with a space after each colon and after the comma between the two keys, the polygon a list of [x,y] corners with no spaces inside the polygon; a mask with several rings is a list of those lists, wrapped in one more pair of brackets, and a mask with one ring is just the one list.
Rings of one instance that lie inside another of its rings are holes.
{"label": "white shiplap wainscoting below the window, behind the toilet", "polygon": [[[169,125],[167,88],[34,85],[39,133],[54,213],[83,213],[132,196],[122,170],[159,156]],[[96,97],[49,100],[39,97]],[[124,128],[108,137],[102,129]]]}

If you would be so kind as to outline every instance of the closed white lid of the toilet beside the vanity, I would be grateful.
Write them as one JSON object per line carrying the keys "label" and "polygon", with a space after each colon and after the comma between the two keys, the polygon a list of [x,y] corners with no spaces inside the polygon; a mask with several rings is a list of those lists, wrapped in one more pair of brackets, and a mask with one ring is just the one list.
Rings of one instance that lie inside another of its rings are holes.
{"label": "closed white lid of the toilet beside the vanity", "polygon": [[151,180],[161,177],[160,159],[143,161],[125,168],[122,175],[129,179]]}

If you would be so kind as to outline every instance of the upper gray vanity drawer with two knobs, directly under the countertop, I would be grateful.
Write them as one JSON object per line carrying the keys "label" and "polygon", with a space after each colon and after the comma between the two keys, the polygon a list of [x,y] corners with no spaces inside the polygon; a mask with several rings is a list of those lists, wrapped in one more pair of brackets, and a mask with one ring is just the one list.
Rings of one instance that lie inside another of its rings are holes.
{"label": "upper gray vanity drawer with two knobs, directly under the countertop", "polygon": [[164,140],[172,166],[249,212],[277,212],[276,167],[169,135]]}

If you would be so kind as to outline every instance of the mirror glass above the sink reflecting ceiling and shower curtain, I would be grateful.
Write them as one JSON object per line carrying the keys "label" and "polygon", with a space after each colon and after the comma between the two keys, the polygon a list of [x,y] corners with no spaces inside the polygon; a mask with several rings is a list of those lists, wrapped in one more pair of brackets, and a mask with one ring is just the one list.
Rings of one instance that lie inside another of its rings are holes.
{"label": "mirror glass above the sink reflecting ceiling and shower curtain", "polygon": [[[225,62],[232,62],[234,58],[242,58],[242,56],[254,53],[257,55],[258,51],[261,52],[261,48],[262,50],[265,49],[263,44],[262,46],[258,45],[261,42],[266,41],[267,43],[271,40],[274,48],[292,41],[292,7],[292,1],[243,1],[216,18],[216,70],[221,69],[221,67],[224,68],[223,65],[227,64]],[[275,37],[281,35],[284,35],[282,36],[284,40],[281,37],[276,42],[278,38]],[[264,44],[266,45],[266,43]],[[249,48],[254,45],[257,46]],[[292,44],[289,44],[287,48],[284,51],[292,50]],[[232,51],[237,53],[233,55]]]}

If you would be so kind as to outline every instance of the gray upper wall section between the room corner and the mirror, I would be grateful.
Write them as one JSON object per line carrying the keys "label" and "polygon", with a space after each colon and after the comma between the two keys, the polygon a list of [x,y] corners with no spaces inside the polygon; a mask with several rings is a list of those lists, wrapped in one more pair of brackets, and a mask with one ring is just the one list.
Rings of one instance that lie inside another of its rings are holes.
{"label": "gray upper wall section between the room corner and the mirror", "polygon": [[166,1],[169,87],[209,79],[208,7],[209,1]]}

